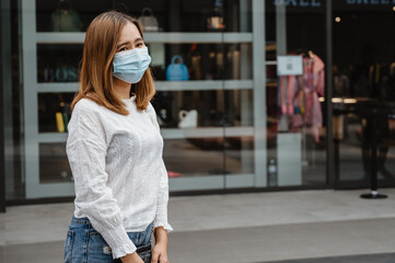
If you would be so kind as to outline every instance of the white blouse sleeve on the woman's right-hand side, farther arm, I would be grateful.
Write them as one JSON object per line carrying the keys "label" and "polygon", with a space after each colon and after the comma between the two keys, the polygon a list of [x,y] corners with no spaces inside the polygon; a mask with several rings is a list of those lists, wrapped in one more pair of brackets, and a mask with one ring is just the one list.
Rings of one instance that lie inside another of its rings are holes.
{"label": "white blouse sleeve on the woman's right-hand side, farther arm", "polygon": [[[151,103],[149,108],[152,122],[154,123],[158,130],[160,130],[156,113]],[[159,193],[158,193],[158,206],[155,219],[153,221],[154,228],[163,227],[166,231],[173,231],[172,226],[167,221],[167,203],[169,203],[169,175],[166,167],[164,165],[163,158],[161,157],[161,179],[159,183]]]}

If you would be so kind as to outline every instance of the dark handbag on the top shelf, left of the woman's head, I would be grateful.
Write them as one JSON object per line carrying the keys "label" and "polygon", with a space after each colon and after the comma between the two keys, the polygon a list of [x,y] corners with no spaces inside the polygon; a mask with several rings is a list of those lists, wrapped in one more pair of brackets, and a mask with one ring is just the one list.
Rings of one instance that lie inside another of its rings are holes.
{"label": "dark handbag on the top shelf, left of the woman's head", "polygon": [[72,10],[69,0],[60,0],[58,8],[51,14],[54,32],[80,32],[81,20],[78,13]]}

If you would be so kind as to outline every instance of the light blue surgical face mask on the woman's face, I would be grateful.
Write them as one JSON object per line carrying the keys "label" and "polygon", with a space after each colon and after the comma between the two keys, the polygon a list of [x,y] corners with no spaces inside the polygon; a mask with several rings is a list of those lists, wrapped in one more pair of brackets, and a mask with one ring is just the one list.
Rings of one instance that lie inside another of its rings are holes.
{"label": "light blue surgical face mask on the woman's face", "polygon": [[116,53],[113,61],[113,76],[128,83],[137,83],[150,64],[151,57],[147,47]]}

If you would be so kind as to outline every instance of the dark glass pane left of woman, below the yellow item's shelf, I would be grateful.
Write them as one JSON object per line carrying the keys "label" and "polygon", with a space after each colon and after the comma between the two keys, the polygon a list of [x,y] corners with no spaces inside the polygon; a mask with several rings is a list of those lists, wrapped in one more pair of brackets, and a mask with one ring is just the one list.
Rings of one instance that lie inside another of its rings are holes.
{"label": "dark glass pane left of woman, below the yellow item's shelf", "polygon": [[71,182],[72,173],[66,155],[66,144],[39,145],[39,182]]}

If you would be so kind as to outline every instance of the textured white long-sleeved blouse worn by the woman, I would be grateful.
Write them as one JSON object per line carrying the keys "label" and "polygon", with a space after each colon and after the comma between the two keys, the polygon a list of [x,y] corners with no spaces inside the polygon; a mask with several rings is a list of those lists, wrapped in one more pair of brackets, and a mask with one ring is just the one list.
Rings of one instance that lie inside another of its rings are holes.
{"label": "textured white long-sleeved blouse worn by the woman", "polygon": [[74,178],[74,216],[88,217],[117,259],[135,252],[127,232],[167,222],[169,179],[163,138],[151,104],[128,116],[82,99],[68,125],[67,155]]}

